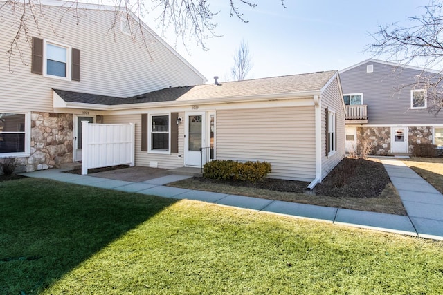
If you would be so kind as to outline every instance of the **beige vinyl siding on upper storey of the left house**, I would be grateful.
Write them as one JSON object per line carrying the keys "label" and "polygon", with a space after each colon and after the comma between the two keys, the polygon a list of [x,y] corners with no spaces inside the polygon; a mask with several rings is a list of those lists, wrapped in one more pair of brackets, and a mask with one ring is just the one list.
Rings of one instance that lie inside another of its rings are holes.
{"label": "beige vinyl siding on upper storey of the left house", "polygon": [[[0,2],[2,3],[2,2]],[[17,6],[19,9],[20,5]],[[6,54],[17,33],[16,18],[10,6],[2,7],[0,26],[0,102],[1,111],[53,111],[51,88],[116,97],[129,97],[169,86],[195,85],[204,82],[201,75],[145,31],[146,48],[141,38],[136,41],[120,32],[120,21],[109,30],[113,11],[78,10],[65,13],[65,8],[46,7],[39,17],[39,31],[28,20],[28,35],[55,41],[80,50],[81,81],[64,81],[30,73],[31,47],[22,33],[19,50]],[[28,10],[29,11],[29,10]],[[17,11],[19,13],[19,11]],[[61,19],[61,22],[60,22]],[[12,26],[12,23],[15,25]],[[12,26],[12,27],[11,27]],[[57,34],[54,33],[56,30]],[[140,35],[140,34],[138,34]],[[8,71],[11,65],[11,73]],[[19,103],[17,103],[19,102]]]}

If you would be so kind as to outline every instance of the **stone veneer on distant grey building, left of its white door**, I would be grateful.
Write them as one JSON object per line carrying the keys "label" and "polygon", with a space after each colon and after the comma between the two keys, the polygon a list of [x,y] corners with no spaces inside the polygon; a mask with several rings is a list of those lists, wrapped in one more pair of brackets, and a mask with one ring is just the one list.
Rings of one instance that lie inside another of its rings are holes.
{"label": "stone veneer on distant grey building, left of its white door", "polygon": [[390,153],[390,127],[357,127],[357,146],[368,141],[373,145],[370,155]]}

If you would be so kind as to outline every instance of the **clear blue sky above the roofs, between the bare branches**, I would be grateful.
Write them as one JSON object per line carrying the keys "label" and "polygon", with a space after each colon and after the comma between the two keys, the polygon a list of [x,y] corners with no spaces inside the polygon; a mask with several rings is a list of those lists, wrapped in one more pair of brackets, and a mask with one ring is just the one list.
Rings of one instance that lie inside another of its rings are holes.
{"label": "clear blue sky above the roofs, between the bare branches", "polygon": [[[239,1],[237,1],[239,2]],[[428,1],[417,0],[253,0],[257,7],[240,6],[248,23],[230,17],[228,0],[212,0],[210,7],[220,10],[215,37],[206,41],[204,51],[179,43],[176,50],[195,66],[208,83],[218,75],[226,81],[233,66],[233,55],[240,42],[248,43],[253,69],[248,79],[311,73],[322,70],[342,70],[371,57],[365,46],[372,42],[370,33],[377,26],[399,22],[408,25],[407,17],[422,15],[421,6]],[[161,30],[145,19],[148,26],[161,35]],[[175,37],[163,38],[174,46]],[[383,59],[382,57],[379,57]]]}

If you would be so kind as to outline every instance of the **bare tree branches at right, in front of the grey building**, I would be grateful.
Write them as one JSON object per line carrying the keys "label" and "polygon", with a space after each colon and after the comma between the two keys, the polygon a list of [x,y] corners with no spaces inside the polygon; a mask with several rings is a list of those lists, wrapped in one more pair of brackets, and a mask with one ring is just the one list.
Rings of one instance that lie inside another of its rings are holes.
{"label": "bare tree branches at right, in front of the grey building", "polygon": [[[428,111],[437,115],[443,108],[443,4],[435,0],[422,8],[423,15],[408,18],[411,26],[379,26],[367,50],[399,64],[419,63],[425,70],[417,75],[413,88],[426,89]],[[440,73],[429,70],[435,67]]]}

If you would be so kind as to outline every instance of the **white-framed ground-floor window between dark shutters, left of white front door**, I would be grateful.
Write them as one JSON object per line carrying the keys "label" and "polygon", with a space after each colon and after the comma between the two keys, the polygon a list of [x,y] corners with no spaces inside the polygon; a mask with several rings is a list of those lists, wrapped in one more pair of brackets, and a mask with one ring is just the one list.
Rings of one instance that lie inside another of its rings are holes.
{"label": "white-framed ground-floor window between dark shutters, left of white front door", "polygon": [[170,116],[151,115],[150,117],[150,151],[170,152]]}

